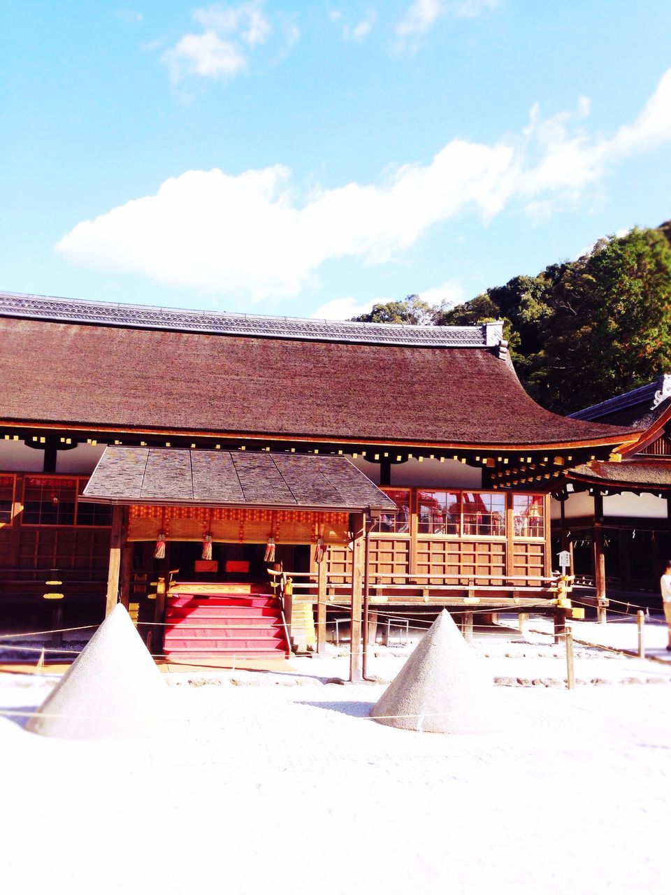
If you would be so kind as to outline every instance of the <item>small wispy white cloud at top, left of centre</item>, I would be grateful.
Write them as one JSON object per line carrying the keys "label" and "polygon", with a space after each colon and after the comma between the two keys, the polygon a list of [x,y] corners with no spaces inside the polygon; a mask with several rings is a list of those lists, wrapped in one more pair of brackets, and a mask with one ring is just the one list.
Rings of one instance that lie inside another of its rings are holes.
{"label": "small wispy white cloud at top, left of centre", "polygon": [[183,35],[161,56],[174,81],[192,75],[215,80],[234,77],[248,66],[249,50],[265,43],[271,30],[260,0],[197,9],[193,20],[202,32]]}

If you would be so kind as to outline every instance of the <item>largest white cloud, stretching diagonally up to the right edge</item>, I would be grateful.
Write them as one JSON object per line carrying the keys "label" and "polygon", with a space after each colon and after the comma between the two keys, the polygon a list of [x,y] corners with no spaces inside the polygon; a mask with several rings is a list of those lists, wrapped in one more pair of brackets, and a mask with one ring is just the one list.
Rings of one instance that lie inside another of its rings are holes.
{"label": "largest white cloud, stretching diagonally up to the right edge", "polygon": [[466,211],[487,221],[513,203],[548,215],[580,200],[622,158],[671,141],[671,69],[634,123],[610,139],[587,135],[586,114],[584,101],[547,121],[534,108],[514,140],[453,140],[429,164],[402,166],[380,183],[304,196],[285,166],[187,171],[154,195],[82,221],[57,251],[87,267],[217,294],[297,294],[326,260],[381,263]]}

